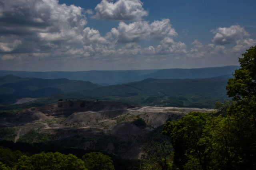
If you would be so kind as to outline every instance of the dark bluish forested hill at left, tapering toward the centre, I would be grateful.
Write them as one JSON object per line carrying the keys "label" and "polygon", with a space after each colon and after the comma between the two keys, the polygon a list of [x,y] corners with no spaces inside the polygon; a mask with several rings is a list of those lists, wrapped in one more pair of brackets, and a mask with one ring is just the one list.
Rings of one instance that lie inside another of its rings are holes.
{"label": "dark bluish forested hill at left, tapering toward the centre", "polygon": [[88,81],[41,78],[0,77],[0,104],[11,104],[19,98],[40,98],[91,90],[100,85]]}

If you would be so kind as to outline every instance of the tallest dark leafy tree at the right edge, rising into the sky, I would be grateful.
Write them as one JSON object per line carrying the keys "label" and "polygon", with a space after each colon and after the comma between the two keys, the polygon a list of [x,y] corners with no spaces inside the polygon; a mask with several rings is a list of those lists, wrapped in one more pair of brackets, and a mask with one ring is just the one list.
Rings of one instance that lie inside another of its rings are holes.
{"label": "tallest dark leafy tree at the right edge, rising into the sky", "polygon": [[246,51],[239,58],[241,68],[226,87],[234,101],[227,110],[232,122],[230,136],[234,140],[231,154],[236,155],[240,168],[256,166],[256,46]]}

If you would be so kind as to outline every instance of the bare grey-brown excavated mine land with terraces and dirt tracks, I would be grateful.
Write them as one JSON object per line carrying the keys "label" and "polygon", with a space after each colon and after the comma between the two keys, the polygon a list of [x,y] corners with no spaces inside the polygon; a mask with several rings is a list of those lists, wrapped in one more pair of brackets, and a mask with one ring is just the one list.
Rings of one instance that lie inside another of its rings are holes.
{"label": "bare grey-brown excavated mine land with terraces and dirt tracks", "polygon": [[[1,138],[14,142],[57,143],[111,152],[122,158],[140,158],[150,133],[189,111],[210,112],[212,109],[62,101],[25,109],[14,117],[3,117]],[[136,123],[138,119],[142,123]]]}

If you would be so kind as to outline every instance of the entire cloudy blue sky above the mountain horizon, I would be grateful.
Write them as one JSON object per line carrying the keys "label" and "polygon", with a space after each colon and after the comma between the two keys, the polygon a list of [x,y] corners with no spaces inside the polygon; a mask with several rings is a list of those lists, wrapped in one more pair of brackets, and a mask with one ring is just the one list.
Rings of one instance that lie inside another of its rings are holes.
{"label": "entire cloudy blue sky above the mountain horizon", "polygon": [[0,70],[239,65],[255,0],[0,0]]}

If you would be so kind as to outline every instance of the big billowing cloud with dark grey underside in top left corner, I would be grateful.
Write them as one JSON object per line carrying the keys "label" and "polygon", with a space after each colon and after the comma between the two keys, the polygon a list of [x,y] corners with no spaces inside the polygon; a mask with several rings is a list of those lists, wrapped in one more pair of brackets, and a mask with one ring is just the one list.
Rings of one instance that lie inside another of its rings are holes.
{"label": "big billowing cloud with dark grey underside in top left corner", "polygon": [[60,5],[57,0],[3,0],[2,4],[0,31],[5,34],[61,32],[87,23],[81,7]]}

